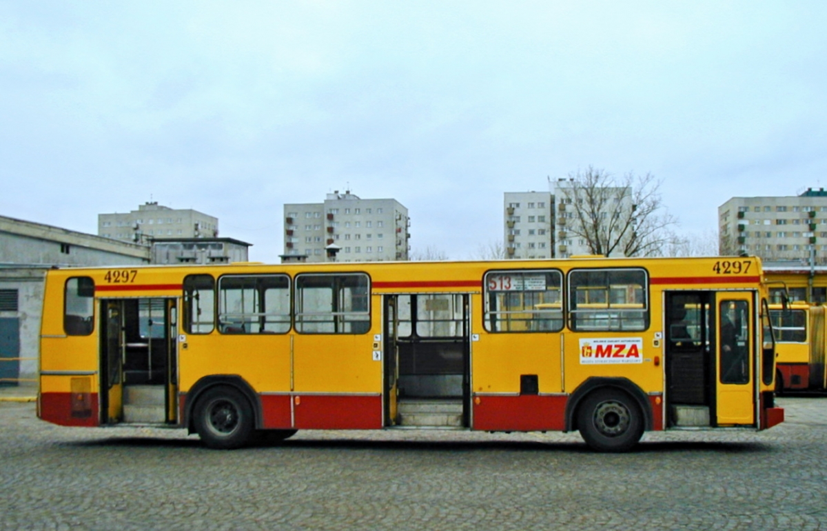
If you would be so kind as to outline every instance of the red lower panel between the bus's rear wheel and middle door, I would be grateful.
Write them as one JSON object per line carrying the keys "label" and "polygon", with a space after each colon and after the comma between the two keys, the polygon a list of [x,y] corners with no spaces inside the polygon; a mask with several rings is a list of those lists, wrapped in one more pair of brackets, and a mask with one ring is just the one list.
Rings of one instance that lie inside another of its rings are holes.
{"label": "red lower panel between the bus's rear wheel and middle door", "polygon": [[380,395],[295,395],[296,429],[382,428]]}

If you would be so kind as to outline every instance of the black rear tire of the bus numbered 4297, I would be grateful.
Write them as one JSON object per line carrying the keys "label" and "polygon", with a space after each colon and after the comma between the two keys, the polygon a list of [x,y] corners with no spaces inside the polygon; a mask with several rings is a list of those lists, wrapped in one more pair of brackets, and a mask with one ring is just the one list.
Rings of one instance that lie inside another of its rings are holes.
{"label": "black rear tire of the bus numbered 4297", "polygon": [[195,404],[195,431],[210,448],[230,450],[250,441],[255,419],[250,402],[227,386],[204,391]]}

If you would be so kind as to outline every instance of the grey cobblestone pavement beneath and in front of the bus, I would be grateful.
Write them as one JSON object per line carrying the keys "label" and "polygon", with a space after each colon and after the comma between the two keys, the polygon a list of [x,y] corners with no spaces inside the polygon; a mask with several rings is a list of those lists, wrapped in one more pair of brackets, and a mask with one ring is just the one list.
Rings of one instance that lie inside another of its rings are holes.
{"label": "grey cobblestone pavement beneath and in front of the bus", "polygon": [[0,529],[827,529],[827,398],[762,433],[299,432],[222,452],[0,403]]}

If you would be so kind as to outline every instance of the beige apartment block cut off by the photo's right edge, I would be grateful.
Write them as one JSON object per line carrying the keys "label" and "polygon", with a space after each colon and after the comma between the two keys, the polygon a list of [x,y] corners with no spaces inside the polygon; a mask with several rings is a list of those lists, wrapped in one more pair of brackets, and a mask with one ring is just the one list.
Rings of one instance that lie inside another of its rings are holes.
{"label": "beige apartment block cut off by the photo's right edge", "polygon": [[718,207],[719,251],[827,264],[827,192],[731,198]]}

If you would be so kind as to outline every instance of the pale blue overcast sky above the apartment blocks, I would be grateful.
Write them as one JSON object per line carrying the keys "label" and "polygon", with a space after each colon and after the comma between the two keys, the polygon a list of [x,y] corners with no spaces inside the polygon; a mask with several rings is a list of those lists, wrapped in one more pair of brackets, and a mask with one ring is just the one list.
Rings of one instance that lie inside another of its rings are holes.
{"label": "pale blue overcast sky above the apartment blocks", "polygon": [[397,199],[470,258],[503,194],[651,172],[686,234],[827,187],[827,2],[0,0],[0,214],[155,200],[283,252],[284,203]]}

